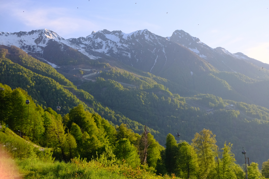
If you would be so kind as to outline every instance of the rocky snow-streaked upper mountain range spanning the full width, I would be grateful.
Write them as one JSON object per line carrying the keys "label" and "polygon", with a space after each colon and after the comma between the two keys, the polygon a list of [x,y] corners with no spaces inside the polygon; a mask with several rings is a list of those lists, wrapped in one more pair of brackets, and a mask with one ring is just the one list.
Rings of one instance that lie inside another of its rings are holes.
{"label": "rocky snow-streaked upper mountain range spanning the full width", "polygon": [[129,34],[100,30],[93,31],[87,37],[70,39],[64,39],[48,29],[1,32],[0,44],[15,45],[28,53],[47,58],[56,65],[55,58],[48,58],[48,53],[43,55],[44,50],[57,49],[65,53],[71,47],[91,59],[119,60],[194,90],[200,89],[197,82],[202,80],[201,77],[212,72],[239,72],[259,81],[269,78],[269,70],[266,70],[269,69],[268,64],[242,53],[230,53],[221,47],[213,49],[183,30],[176,30],[171,37],[166,38],[147,29]]}

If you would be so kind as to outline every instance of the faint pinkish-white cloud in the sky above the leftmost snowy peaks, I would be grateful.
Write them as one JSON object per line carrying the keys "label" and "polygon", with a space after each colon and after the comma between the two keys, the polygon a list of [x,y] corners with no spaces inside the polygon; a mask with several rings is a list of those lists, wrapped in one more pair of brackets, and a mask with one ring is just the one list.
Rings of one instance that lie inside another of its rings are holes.
{"label": "faint pinkish-white cloud in the sky above the leftmost snowy peaks", "polygon": [[23,12],[19,4],[12,5],[12,8],[7,7],[9,11],[6,11],[6,13],[15,18],[16,21],[19,20],[28,30],[46,28],[53,30],[63,38],[74,37],[74,34],[78,38],[88,36],[91,33],[90,29],[98,29],[94,22],[76,17],[65,8],[45,7]]}

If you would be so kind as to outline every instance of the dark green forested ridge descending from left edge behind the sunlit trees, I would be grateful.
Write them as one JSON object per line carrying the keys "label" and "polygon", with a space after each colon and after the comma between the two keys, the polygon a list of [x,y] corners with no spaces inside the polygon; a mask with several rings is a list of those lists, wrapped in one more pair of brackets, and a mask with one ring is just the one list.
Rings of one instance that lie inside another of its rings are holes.
{"label": "dark green forested ridge descending from left edge behind the sunlit trees", "polygon": [[[88,92],[77,90],[74,84],[67,80],[63,75],[59,74],[50,65],[30,57],[30,55],[27,55],[19,48],[13,48],[14,49],[11,48],[11,52],[17,50],[14,54],[9,53],[7,49],[1,49],[1,83],[8,84],[13,89],[21,87],[22,89],[27,90],[33,101],[43,108],[50,107],[55,109],[58,105],[57,102],[59,102],[61,106],[61,115],[67,114],[71,108],[82,104],[88,111],[95,111],[102,115],[102,117],[112,121],[113,123],[111,124],[113,125],[125,123],[135,132],[140,133],[143,131],[143,125],[140,122],[132,121],[120,112],[104,107],[104,105],[95,100]],[[24,67],[5,58],[6,54],[11,56],[13,61],[22,64]],[[31,70],[36,71],[36,73]],[[83,102],[80,101],[80,99],[82,99]],[[161,140],[161,138],[164,137],[163,134],[160,134],[156,130],[149,130],[158,140]]]}

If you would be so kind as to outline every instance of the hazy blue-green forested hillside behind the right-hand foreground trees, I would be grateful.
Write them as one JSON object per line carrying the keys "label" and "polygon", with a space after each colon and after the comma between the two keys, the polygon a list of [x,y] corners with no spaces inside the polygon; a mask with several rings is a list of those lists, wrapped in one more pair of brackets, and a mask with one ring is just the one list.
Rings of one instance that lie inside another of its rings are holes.
{"label": "hazy blue-green forested hillside behind the right-hand foreground trees", "polygon": [[[268,133],[268,109],[202,94],[186,98],[196,104],[191,107],[185,103],[185,98],[172,94],[168,88],[157,84],[152,78],[143,81],[145,77],[138,78],[132,73],[113,69],[102,72],[100,76],[107,80],[97,78],[96,82],[85,82],[79,88],[89,92],[103,104],[113,106],[113,109],[119,110],[131,120],[143,121],[163,135],[179,130],[182,134],[181,140],[189,142],[195,132],[203,128],[210,129],[216,134],[218,146],[223,145],[225,141],[234,143],[234,148],[238,152],[235,158],[240,163],[244,163],[240,153],[241,146],[248,148],[249,156],[254,161],[264,162],[264,156],[260,155],[259,150],[266,151],[266,146],[269,146],[266,142],[268,135],[264,135]],[[134,87],[126,87],[119,82],[132,84]],[[229,104],[235,106],[226,107]],[[242,110],[239,104],[247,108]],[[214,112],[207,113],[205,109],[211,108],[214,108]],[[257,134],[256,131],[259,133]],[[164,140],[159,142],[162,145],[165,143]],[[264,145],[260,146],[261,143]]]}

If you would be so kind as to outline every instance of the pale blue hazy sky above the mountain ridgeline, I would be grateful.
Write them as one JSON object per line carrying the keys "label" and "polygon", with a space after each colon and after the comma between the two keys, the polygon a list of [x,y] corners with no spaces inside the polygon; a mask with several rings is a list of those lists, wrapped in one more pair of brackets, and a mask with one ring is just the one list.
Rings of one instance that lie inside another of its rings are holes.
{"label": "pale blue hazy sky above the mountain ridgeline", "polygon": [[242,52],[269,64],[268,8],[268,0],[1,0],[0,31],[46,28],[63,38],[78,38],[103,29],[148,29],[167,37],[180,29],[212,48]]}

